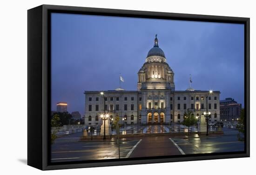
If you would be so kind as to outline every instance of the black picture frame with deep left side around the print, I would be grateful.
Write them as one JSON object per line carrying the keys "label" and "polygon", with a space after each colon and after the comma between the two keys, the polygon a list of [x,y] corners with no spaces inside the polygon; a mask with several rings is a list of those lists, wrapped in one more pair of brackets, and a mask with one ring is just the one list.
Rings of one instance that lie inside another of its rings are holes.
{"label": "black picture frame with deep left side around the print", "polygon": [[[73,169],[144,163],[180,162],[209,159],[249,157],[249,18],[180,14],[167,12],[145,12],[88,8],[75,6],[41,5],[27,11],[27,164],[41,170]],[[236,153],[213,153],[181,156],[158,156],[128,158],[124,160],[97,160],[87,162],[50,163],[50,106],[51,106],[51,30],[50,13],[91,14],[150,19],[175,19],[244,24],[244,106],[245,106],[245,151]]]}

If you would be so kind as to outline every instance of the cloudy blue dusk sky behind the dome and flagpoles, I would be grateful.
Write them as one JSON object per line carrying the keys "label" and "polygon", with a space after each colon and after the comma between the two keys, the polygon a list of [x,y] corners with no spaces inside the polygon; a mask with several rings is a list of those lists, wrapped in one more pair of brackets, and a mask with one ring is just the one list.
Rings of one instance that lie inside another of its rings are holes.
{"label": "cloudy blue dusk sky behind the dome and flagpoles", "polygon": [[175,90],[218,90],[244,106],[241,24],[52,14],[52,110],[66,101],[84,115],[84,91],[137,90],[155,34],[174,71]]}

